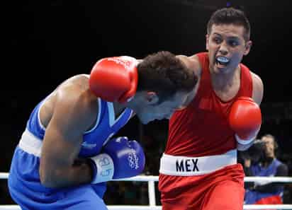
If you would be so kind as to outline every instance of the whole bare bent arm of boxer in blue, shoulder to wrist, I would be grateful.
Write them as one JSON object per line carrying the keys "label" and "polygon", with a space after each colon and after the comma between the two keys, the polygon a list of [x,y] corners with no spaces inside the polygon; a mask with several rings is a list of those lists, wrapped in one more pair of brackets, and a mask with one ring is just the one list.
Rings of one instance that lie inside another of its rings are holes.
{"label": "whole bare bent arm of boxer in blue, shoulder to wrist", "polygon": [[77,161],[83,133],[94,123],[93,100],[88,91],[63,88],[47,125],[40,157],[40,181],[45,187],[69,187],[92,180],[91,167]]}

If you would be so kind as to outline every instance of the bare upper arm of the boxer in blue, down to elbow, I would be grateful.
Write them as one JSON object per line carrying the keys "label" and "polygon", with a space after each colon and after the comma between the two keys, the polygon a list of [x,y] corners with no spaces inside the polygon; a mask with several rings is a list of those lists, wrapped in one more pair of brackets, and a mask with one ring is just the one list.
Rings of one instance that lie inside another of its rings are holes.
{"label": "bare upper arm of the boxer in blue, down to elbow", "polygon": [[79,98],[60,98],[43,139],[40,167],[50,170],[71,166],[77,158],[83,134],[91,124],[89,106]]}

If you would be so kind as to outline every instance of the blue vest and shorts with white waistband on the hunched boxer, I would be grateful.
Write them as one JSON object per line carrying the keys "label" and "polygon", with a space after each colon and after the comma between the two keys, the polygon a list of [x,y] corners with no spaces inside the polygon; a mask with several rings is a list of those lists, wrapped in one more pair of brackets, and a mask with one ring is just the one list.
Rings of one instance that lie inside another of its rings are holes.
{"label": "blue vest and shorts with white waistband on the hunched boxer", "polygon": [[[49,188],[41,184],[40,149],[45,127],[40,122],[39,113],[44,101],[30,114],[26,131],[14,151],[8,179],[11,197],[23,210],[106,209],[106,204],[102,201],[106,182],[60,188]],[[83,134],[80,157],[86,158],[101,153],[103,145],[128,122],[133,112],[126,108],[116,118],[113,103],[101,99],[96,100],[97,108],[99,111],[96,124]]]}

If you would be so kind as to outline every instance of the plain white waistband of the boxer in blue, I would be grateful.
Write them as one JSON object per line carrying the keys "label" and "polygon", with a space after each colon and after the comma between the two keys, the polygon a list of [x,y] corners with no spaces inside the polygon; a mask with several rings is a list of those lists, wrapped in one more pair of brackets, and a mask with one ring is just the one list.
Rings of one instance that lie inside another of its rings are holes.
{"label": "plain white waistband of the boxer in blue", "polygon": [[36,136],[30,133],[28,129],[26,129],[21,136],[18,147],[27,153],[40,157],[42,145],[43,141],[38,139]]}

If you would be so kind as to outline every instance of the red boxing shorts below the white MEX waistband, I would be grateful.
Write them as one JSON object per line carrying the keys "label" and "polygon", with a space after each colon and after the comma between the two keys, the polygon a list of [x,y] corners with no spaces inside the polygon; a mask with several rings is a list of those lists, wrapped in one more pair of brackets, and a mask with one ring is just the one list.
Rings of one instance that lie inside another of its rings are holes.
{"label": "red boxing shorts below the white MEX waistband", "polygon": [[159,175],[162,210],[242,210],[245,197],[242,165],[207,175]]}

